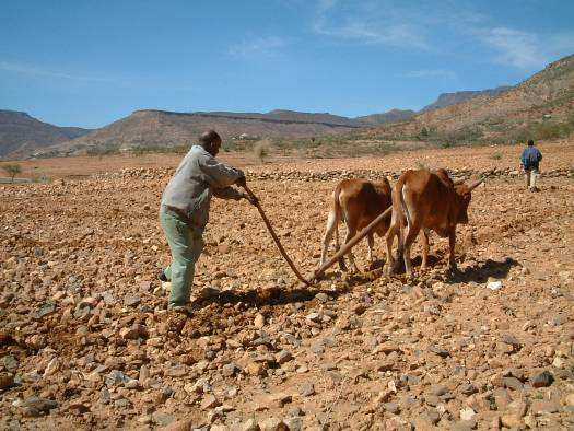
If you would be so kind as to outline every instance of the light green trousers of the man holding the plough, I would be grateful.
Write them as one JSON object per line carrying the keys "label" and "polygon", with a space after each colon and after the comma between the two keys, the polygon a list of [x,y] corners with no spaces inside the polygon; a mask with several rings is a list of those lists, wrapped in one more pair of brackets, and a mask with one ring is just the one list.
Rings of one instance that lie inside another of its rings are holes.
{"label": "light green trousers of the man holding the plough", "polygon": [[191,293],[196,261],[203,249],[202,233],[164,208],[160,211],[160,223],[172,251],[172,263],[164,269],[165,277],[172,281],[168,307],[186,305]]}

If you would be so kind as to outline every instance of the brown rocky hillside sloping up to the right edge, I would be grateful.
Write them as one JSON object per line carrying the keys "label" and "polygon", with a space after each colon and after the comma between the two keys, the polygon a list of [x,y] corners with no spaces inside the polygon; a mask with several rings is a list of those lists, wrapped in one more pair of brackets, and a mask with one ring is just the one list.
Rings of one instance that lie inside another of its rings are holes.
{"label": "brown rocky hillside sloping up to the right edge", "polygon": [[455,105],[425,110],[408,121],[374,127],[376,139],[515,142],[552,139],[574,131],[574,55],[495,95],[480,94]]}

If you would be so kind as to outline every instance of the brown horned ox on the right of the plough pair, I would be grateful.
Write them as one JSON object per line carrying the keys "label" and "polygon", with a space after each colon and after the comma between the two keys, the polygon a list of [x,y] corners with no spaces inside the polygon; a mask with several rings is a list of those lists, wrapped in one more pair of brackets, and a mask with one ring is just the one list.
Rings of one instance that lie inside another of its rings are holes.
{"label": "brown horned ox on the right of the plough pair", "polygon": [[450,269],[456,269],[455,242],[456,225],[468,223],[468,205],[471,191],[484,179],[471,185],[453,183],[445,170],[407,171],[393,189],[393,218],[387,232],[388,271],[393,271],[395,259],[391,254],[393,242],[398,236],[397,255],[403,256],[405,270],[412,273],[411,245],[422,230],[422,265],[426,268],[429,256],[429,233],[435,231],[440,236],[448,236]]}

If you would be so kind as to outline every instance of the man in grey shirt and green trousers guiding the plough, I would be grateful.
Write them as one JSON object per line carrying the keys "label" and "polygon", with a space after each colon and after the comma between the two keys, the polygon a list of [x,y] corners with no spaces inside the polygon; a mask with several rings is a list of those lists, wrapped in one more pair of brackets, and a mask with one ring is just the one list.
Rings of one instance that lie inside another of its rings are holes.
{"label": "man in grey shirt and green trousers guiding the plough", "polygon": [[160,222],[172,252],[172,263],[157,278],[172,282],[167,307],[183,314],[190,314],[195,265],[203,249],[202,235],[211,196],[250,201],[245,193],[230,187],[245,185],[245,175],[215,160],[220,147],[221,137],[214,130],[202,133],[199,143],[192,145],[179,163],[162,196]]}

